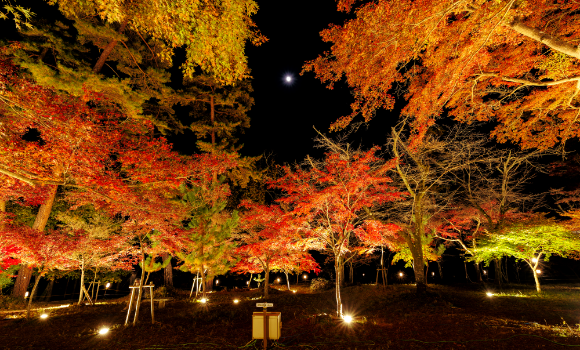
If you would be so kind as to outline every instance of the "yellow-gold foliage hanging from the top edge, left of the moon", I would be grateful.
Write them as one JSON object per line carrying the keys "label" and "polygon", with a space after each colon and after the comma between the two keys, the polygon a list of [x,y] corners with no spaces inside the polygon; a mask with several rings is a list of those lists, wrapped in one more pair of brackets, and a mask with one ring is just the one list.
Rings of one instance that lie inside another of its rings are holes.
{"label": "yellow-gold foliage hanging from the top edge, left of the moon", "polygon": [[102,51],[95,71],[123,45],[124,33],[133,32],[154,43],[161,61],[169,62],[174,49],[186,48],[181,69],[191,77],[197,67],[223,83],[233,83],[246,75],[246,42],[259,45],[265,38],[251,16],[258,10],[253,0],[198,3],[94,0],[78,3],[57,0],[59,10],[69,19],[100,21],[118,34],[97,43]]}

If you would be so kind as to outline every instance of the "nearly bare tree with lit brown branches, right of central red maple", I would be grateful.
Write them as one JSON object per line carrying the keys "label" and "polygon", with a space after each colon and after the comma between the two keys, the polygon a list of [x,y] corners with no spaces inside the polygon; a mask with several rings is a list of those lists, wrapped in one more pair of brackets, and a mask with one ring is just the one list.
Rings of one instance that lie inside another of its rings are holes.
{"label": "nearly bare tree with lit brown branches, right of central red maple", "polygon": [[458,191],[453,174],[480,160],[477,155],[468,155],[483,140],[464,129],[451,130],[445,136],[432,129],[417,144],[412,137],[405,138],[405,130],[404,123],[392,129],[389,147],[396,161],[395,179],[408,197],[393,202],[384,213],[401,227],[398,234],[411,254],[417,292],[422,293],[426,290],[425,254],[436,253],[429,246],[439,226],[437,214],[451,208]]}

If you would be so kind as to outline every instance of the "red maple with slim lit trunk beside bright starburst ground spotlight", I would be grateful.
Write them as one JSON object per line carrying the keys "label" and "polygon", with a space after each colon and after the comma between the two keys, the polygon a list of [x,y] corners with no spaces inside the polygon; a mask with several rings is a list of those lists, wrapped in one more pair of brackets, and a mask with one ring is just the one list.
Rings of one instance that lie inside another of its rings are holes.
{"label": "red maple with slim lit trunk beside bright starburst ground spotlight", "polygon": [[[302,166],[285,167],[285,175],[271,186],[284,191],[278,201],[287,206],[286,215],[296,220],[300,232],[319,241],[334,256],[337,315],[342,316],[340,272],[352,235],[374,237],[376,230],[393,232],[380,222],[370,222],[367,210],[401,199],[387,173],[392,162],[382,161],[376,153],[356,151],[346,145],[330,143],[321,161],[310,157]],[[370,224],[371,223],[371,224]]]}

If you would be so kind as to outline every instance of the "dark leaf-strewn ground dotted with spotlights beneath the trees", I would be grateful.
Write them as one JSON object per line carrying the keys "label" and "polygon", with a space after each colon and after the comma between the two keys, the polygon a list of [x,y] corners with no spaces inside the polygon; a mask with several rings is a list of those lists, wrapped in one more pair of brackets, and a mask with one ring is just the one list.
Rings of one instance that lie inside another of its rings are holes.
{"label": "dark leaf-strewn ground dotted with spotlights beneath the trees", "polygon": [[[334,320],[334,291],[310,292],[306,286],[273,290],[267,299],[282,313],[282,338],[270,348],[284,349],[565,349],[580,347],[580,285],[533,286],[430,285],[418,298],[412,285],[375,285],[343,289],[345,314]],[[251,315],[259,293],[209,294],[202,304],[187,292],[155,310],[143,304],[136,326],[123,326],[128,298],[96,306],[38,309],[30,320],[21,312],[0,313],[2,349],[262,349],[252,341]],[[232,301],[239,298],[240,302]],[[57,303],[59,304],[59,303]],[[53,304],[56,306],[57,304]],[[49,313],[46,319],[41,312]],[[111,330],[99,335],[102,326]]]}

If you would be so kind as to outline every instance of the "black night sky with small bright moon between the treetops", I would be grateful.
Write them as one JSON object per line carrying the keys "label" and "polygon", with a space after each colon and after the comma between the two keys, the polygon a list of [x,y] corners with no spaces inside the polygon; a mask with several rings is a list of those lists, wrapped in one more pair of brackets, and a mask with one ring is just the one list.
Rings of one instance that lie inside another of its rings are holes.
{"label": "black night sky with small bright moon between the treetops", "polygon": [[[320,31],[331,23],[342,24],[347,17],[336,10],[335,0],[263,0],[258,4],[260,10],[253,18],[269,41],[247,49],[255,105],[249,113],[251,127],[241,137],[242,153],[272,153],[279,163],[299,162],[307,154],[320,156],[321,151],[313,149],[313,126],[328,133],[333,121],[350,113],[354,100],[346,84],[329,90],[313,73],[299,74],[306,61],[330,48]],[[285,74],[294,77],[292,85],[284,83]],[[357,132],[352,142],[384,144],[384,122],[377,118],[370,130]]]}

